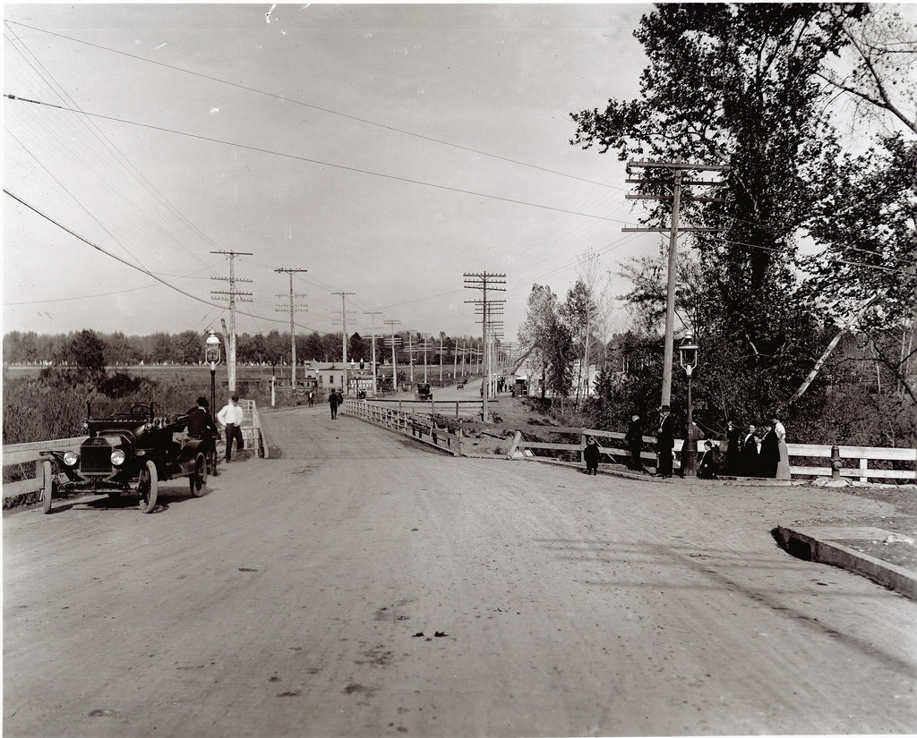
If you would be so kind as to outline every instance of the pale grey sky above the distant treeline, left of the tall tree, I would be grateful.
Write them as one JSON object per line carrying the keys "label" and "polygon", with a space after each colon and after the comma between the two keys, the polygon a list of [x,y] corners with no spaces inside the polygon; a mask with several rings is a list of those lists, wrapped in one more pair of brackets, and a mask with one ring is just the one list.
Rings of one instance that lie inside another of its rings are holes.
{"label": "pale grey sky above the distant treeline, left of the tall tree", "polygon": [[638,95],[649,5],[4,11],[4,333],[204,335],[230,269],[238,333],[288,331],[304,269],[297,332],[478,335],[487,272],[513,342],[533,284],[591,253],[621,294],[658,254],[624,164],[569,143]]}

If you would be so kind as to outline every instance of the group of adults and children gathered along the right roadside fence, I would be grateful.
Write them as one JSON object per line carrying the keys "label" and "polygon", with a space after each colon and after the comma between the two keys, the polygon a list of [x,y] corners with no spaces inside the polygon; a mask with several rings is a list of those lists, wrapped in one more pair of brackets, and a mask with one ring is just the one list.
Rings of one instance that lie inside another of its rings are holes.
{"label": "group of adults and children gathered along the right roadside fence", "polygon": [[[659,407],[659,424],[656,429],[657,470],[654,476],[669,479],[673,474],[672,451],[675,447],[675,421],[668,405]],[[787,430],[779,418],[771,417],[759,424],[749,425],[740,432],[730,421],[726,429],[725,451],[713,440],[704,440],[705,434],[696,423],[691,423],[690,438],[698,450],[697,476],[716,479],[718,474],[730,476],[768,477],[790,479],[790,456],[787,451]],[[685,434],[686,436],[688,434]],[[703,443],[700,444],[700,441]],[[633,472],[649,473],[643,463],[643,420],[638,413],[631,416],[624,435],[624,445],[630,454],[628,468]],[[681,446],[679,476],[685,474],[688,438]],[[598,467],[599,446],[594,439],[586,440],[583,450],[586,472],[595,473]]]}

